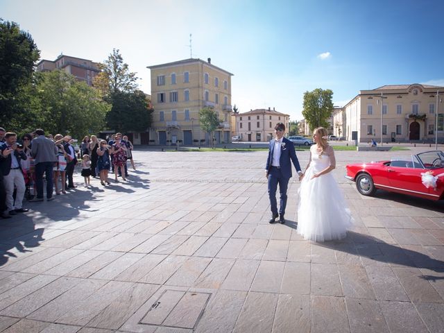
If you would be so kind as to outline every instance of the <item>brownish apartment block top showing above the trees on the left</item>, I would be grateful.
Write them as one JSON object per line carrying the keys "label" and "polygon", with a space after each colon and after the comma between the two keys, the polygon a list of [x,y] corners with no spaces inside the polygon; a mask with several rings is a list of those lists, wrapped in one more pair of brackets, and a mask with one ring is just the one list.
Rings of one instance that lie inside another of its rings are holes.
{"label": "brownish apartment block top showing above the trees on the left", "polygon": [[87,85],[92,85],[94,76],[100,73],[99,64],[96,62],[62,54],[56,60],[40,60],[37,64],[37,71],[53,71],[55,69],[66,71]]}

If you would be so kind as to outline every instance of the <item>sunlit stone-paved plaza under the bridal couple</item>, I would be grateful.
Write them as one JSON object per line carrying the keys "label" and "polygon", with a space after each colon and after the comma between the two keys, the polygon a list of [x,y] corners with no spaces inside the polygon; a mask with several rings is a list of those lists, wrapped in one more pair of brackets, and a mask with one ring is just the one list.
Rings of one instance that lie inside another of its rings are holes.
{"label": "sunlit stone-paved plaza under the bridal couple", "polygon": [[268,223],[266,151],[136,148],[128,182],[87,189],[78,173],[0,220],[0,332],[444,332],[444,203],[344,178],[431,149],[337,151],[355,225],[316,244],[296,234],[295,177],[287,223]]}

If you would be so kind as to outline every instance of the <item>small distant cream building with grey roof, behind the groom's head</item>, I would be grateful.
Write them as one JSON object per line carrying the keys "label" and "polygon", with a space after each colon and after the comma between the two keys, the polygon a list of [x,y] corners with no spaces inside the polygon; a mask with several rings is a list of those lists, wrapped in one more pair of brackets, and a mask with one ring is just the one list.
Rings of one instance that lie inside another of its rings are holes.
{"label": "small distant cream building with grey roof, behind the groom's head", "polygon": [[273,138],[276,123],[284,123],[285,136],[289,133],[289,114],[273,108],[250,110],[235,114],[236,134],[244,142],[268,142]]}

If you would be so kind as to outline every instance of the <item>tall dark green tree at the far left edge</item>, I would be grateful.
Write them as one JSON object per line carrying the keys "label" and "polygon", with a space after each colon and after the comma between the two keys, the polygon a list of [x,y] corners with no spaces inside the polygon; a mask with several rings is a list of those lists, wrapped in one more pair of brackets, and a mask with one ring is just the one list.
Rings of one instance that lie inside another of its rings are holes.
{"label": "tall dark green tree at the far left edge", "polygon": [[0,19],[0,123],[14,128],[31,103],[27,95],[40,57],[33,38],[15,22]]}

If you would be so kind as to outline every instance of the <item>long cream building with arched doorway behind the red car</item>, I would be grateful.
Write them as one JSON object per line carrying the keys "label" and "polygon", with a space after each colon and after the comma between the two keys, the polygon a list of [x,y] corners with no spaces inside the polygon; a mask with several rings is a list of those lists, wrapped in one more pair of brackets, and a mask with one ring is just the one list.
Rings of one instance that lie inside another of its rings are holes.
{"label": "long cream building with arched doorway behind the red car", "polygon": [[[443,95],[444,87],[384,85],[361,90],[343,107],[346,125],[342,136],[358,142],[371,139],[379,142],[382,133],[383,142],[434,141],[436,92]],[[444,111],[441,100],[438,108]],[[438,114],[437,130],[441,139],[444,138],[443,121],[443,113]]]}

